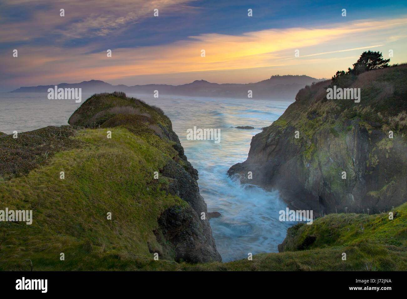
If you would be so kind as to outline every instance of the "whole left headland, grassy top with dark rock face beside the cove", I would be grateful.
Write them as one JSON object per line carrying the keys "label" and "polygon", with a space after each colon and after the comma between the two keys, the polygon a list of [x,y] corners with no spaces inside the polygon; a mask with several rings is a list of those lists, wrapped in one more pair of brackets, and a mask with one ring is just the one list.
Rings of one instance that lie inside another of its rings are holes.
{"label": "whole left headland, grassy top with dark rock face beside the cove", "polygon": [[68,122],[0,137],[1,206],[33,211],[31,225],[0,222],[2,270],[24,258],[35,270],[131,269],[155,253],[221,261],[197,170],[161,109],[95,94]]}

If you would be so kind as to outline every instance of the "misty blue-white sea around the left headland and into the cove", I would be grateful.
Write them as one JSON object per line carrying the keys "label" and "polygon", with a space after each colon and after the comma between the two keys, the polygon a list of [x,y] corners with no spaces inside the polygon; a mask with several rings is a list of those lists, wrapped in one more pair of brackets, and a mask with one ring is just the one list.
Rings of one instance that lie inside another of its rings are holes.
{"label": "misty blue-white sea around the left headland and into the cove", "polygon": [[[200,193],[208,212],[220,212],[210,224],[223,262],[247,258],[247,253],[277,252],[292,222],[280,222],[278,212],[287,205],[278,192],[241,185],[229,178],[233,164],[247,159],[250,141],[276,120],[292,102],[273,100],[197,98],[127,94],[164,110],[179,136],[188,161],[198,170]],[[82,103],[91,94],[82,94]],[[81,103],[48,100],[47,93],[1,93],[0,131],[31,131],[67,124]],[[187,129],[220,129],[220,143],[187,140]],[[236,129],[251,126],[252,130]],[[199,213],[198,213],[199,214]]]}

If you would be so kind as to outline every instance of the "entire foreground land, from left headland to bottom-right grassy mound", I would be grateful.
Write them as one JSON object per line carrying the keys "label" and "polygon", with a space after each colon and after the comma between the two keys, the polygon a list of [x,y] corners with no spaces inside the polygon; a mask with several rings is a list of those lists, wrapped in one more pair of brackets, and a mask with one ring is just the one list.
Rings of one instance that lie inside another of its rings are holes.
{"label": "entire foreground land, from left headland to bottom-right grassy mound", "polygon": [[407,203],[393,220],[324,215],[290,228],[281,253],[219,262],[197,172],[160,109],[97,94],[69,122],[0,135],[0,210],[33,210],[31,225],[0,221],[0,271],[406,270]]}

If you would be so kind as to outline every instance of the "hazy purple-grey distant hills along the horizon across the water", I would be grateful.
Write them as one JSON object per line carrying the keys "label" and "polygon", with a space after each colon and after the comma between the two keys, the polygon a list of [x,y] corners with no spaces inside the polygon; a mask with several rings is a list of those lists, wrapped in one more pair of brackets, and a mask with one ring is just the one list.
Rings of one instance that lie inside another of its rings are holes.
{"label": "hazy purple-grey distant hills along the horizon across the water", "polygon": [[[323,81],[306,75],[284,75],[271,76],[270,79],[256,83],[234,84],[234,83],[210,83],[205,80],[195,80],[183,85],[147,84],[147,85],[112,85],[100,80],[82,81],[81,83],[59,83],[58,88],[82,88],[82,92],[114,92],[121,91],[133,94],[153,94],[158,90],[159,95],[180,96],[208,96],[247,98],[248,90],[252,90],[254,99],[276,99],[294,100],[297,92],[311,85],[313,82]],[[39,85],[31,87],[20,87],[11,92],[47,92],[54,85]]]}

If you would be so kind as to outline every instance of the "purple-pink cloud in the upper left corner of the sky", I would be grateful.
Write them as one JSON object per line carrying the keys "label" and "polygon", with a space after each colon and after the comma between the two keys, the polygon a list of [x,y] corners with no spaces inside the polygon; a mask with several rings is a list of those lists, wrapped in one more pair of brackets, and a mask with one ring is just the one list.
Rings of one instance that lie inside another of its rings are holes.
{"label": "purple-pink cloud in the upper left corner of the sky", "polygon": [[[191,0],[5,0],[3,11],[30,11],[26,20],[0,17],[1,42],[30,41],[59,34],[59,41],[106,36],[119,28],[153,17],[153,10],[170,15]],[[38,9],[40,7],[40,9]],[[60,9],[65,16],[59,15]],[[192,9],[188,7],[188,9]]]}

